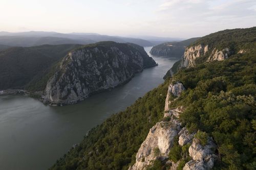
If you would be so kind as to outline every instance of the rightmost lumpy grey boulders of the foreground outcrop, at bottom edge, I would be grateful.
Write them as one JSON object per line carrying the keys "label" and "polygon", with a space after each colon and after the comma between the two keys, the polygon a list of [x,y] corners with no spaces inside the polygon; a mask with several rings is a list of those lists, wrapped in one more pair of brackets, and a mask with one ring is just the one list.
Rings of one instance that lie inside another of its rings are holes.
{"label": "rightmost lumpy grey boulders of the foreground outcrop, at bottom edge", "polygon": [[189,156],[192,158],[185,164],[183,170],[188,169],[211,169],[217,156],[214,154],[216,144],[208,138],[207,144],[202,146],[198,139],[193,139],[193,143],[188,149]]}

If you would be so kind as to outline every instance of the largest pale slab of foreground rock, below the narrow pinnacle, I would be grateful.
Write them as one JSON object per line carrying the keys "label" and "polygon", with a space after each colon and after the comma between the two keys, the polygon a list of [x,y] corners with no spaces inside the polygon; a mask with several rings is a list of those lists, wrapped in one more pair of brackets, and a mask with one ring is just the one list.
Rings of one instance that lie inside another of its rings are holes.
{"label": "largest pale slab of foreground rock, below the narrow pinnacle", "polygon": [[174,137],[178,135],[179,131],[180,122],[177,119],[157,123],[150,129],[136,155],[136,163],[129,169],[143,169],[159,157],[166,159],[170,148],[173,147]]}

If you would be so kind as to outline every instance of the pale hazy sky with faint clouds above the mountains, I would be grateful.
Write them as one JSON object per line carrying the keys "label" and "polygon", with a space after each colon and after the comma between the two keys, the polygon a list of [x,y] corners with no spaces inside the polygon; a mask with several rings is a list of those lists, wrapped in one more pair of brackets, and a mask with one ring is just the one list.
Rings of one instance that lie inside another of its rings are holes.
{"label": "pale hazy sky with faint clouds above the mountains", "polygon": [[189,38],[256,26],[256,0],[0,0],[0,31]]}

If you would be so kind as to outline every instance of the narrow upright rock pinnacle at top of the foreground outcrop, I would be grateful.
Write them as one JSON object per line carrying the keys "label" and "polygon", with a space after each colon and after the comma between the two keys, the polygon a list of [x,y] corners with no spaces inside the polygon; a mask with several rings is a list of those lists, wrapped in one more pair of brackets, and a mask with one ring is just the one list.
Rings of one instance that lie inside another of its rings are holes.
{"label": "narrow upright rock pinnacle at top of the foreground outcrop", "polygon": [[164,111],[169,110],[169,96],[170,94],[173,94],[175,96],[180,96],[181,92],[185,90],[185,87],[183,86],[182,83],[177,82],[176,84],[170,84],[168,87],[166,99],[165,99],[165,106],[164,106]]}

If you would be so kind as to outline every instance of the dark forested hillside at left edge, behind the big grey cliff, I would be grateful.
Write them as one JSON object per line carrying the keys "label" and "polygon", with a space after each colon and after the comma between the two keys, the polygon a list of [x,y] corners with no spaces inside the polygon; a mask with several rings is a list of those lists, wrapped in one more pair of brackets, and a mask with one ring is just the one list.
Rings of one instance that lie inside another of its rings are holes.
{"label": "dark forested hillside at left edge, behind the big grey cliff", "polygon": [[[24,88],[33,79],[40,79],[44,76],[45,72],[48,72],[54,63],[79,46],[81,45],[40,45],[33,47],[11,47],[1,51],[0,89]],[[43,89],[40,87],[35,90]]]}

